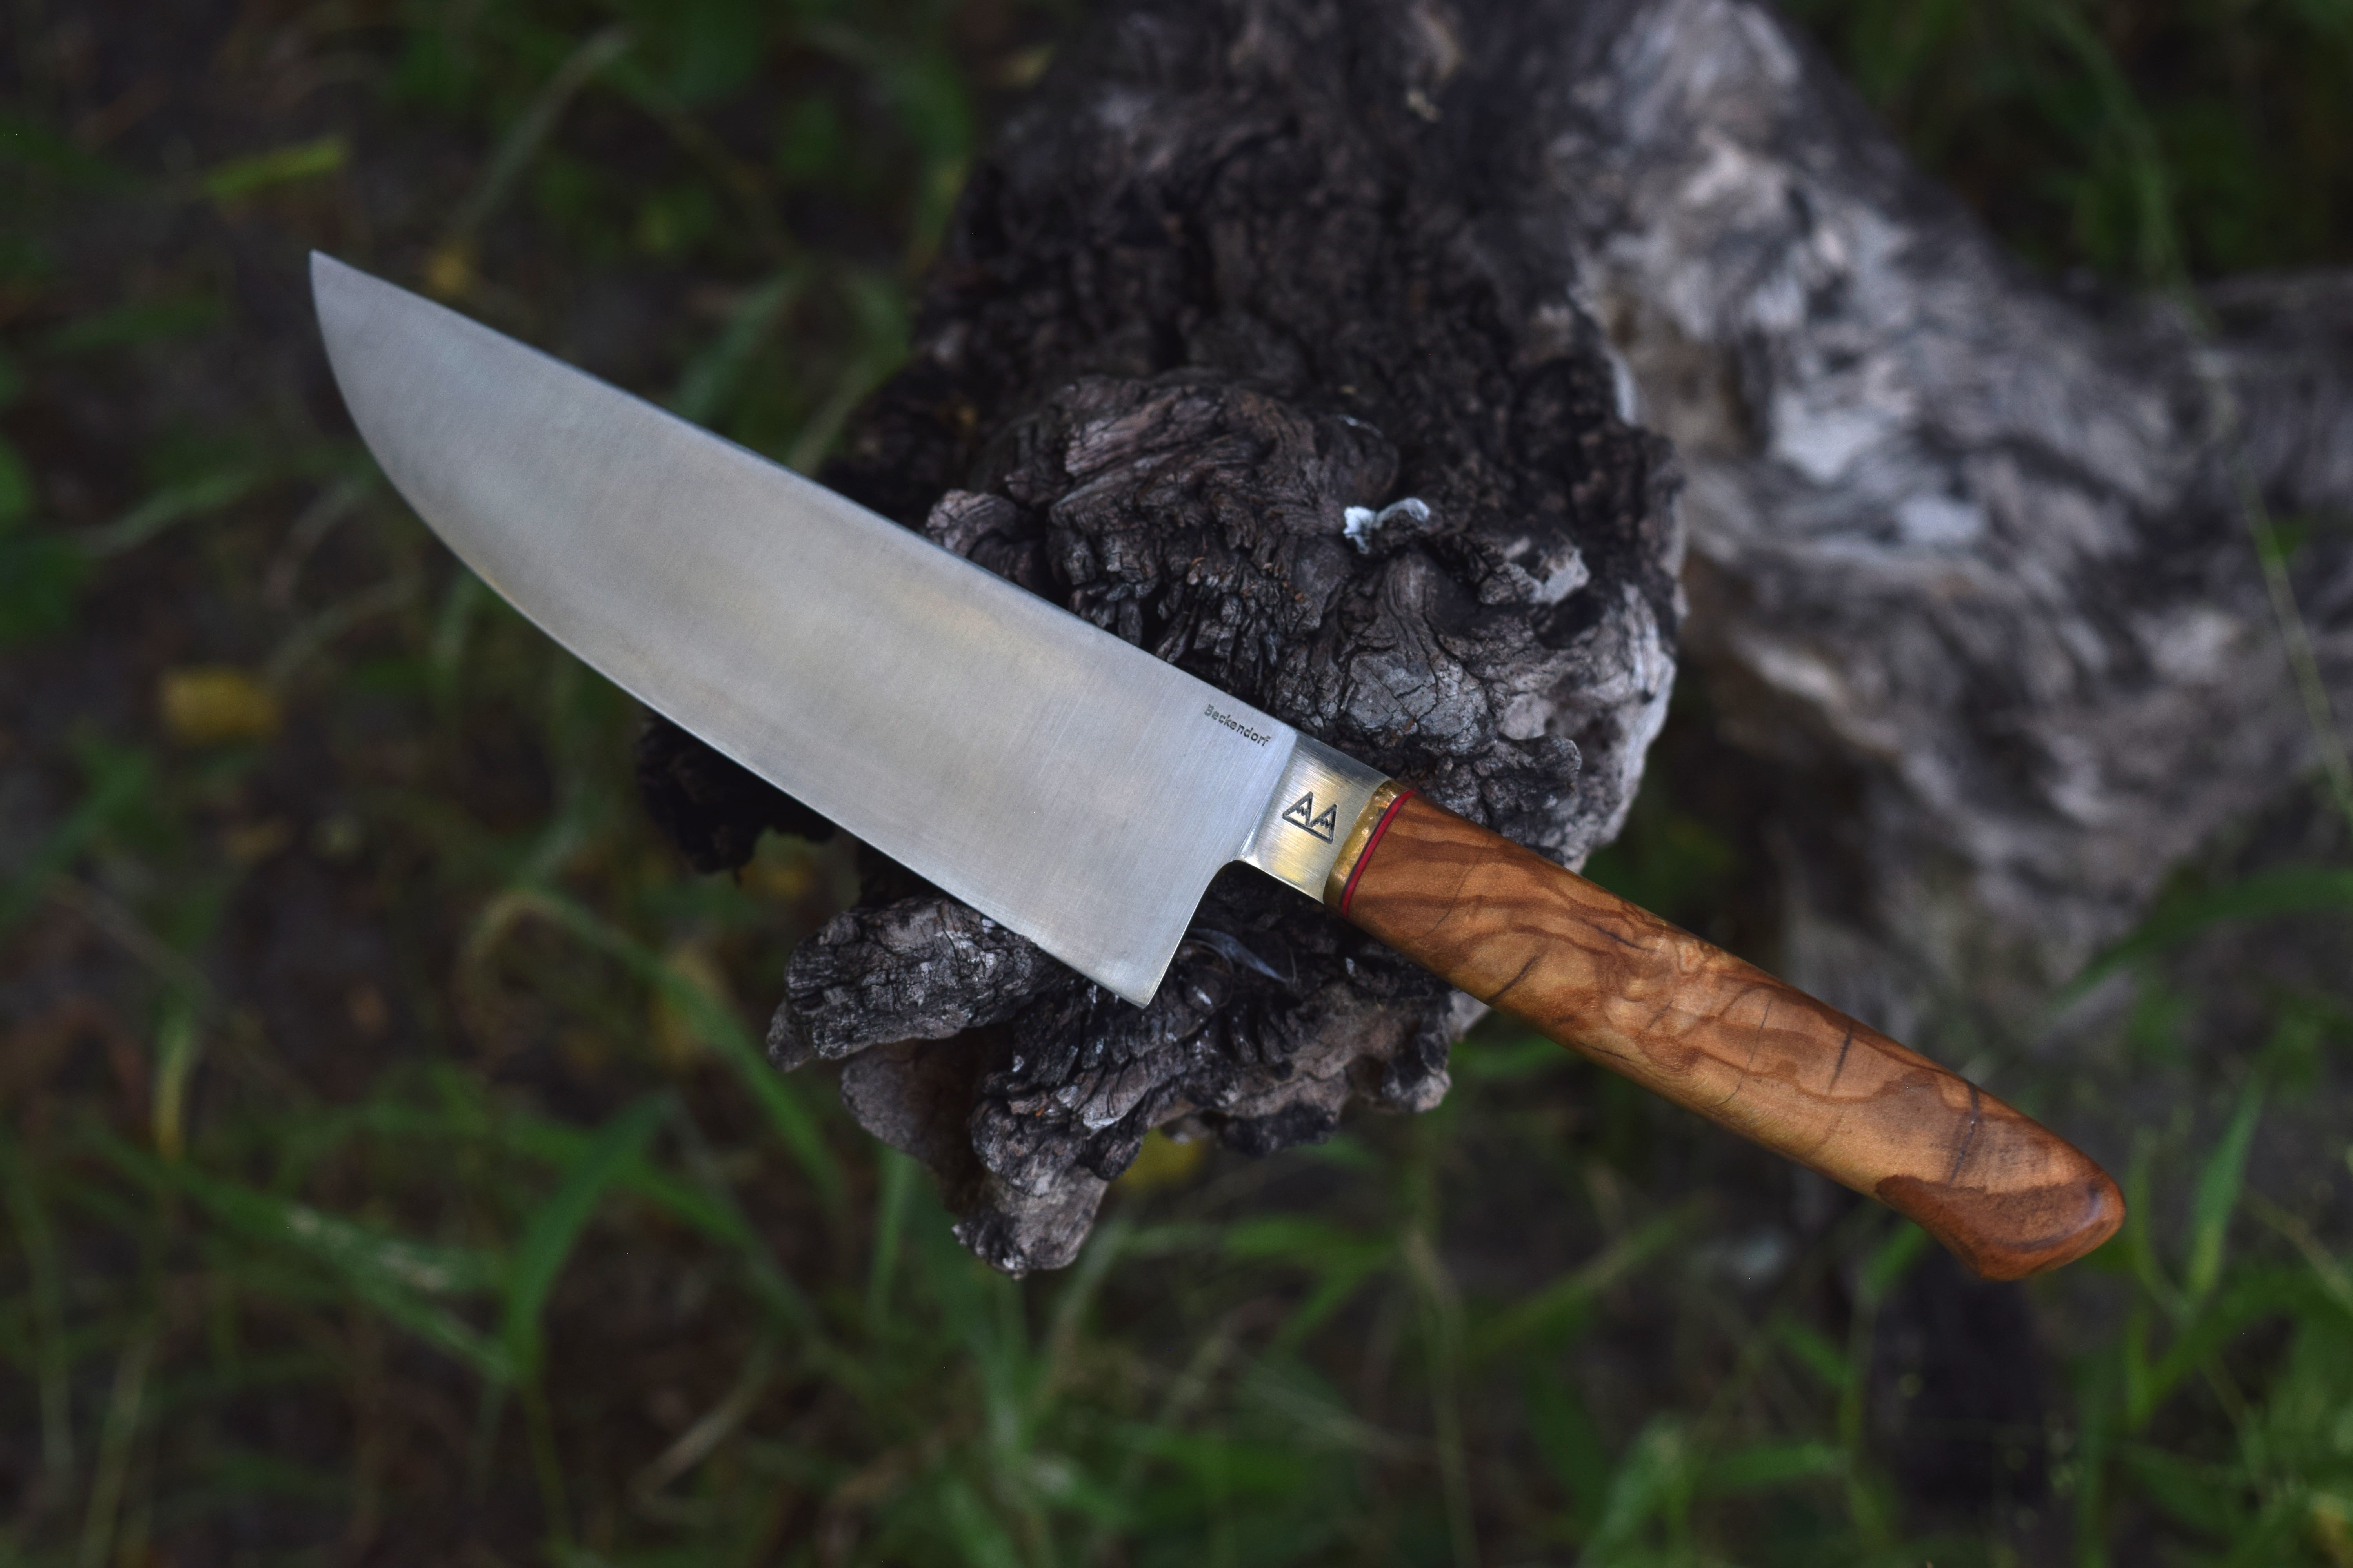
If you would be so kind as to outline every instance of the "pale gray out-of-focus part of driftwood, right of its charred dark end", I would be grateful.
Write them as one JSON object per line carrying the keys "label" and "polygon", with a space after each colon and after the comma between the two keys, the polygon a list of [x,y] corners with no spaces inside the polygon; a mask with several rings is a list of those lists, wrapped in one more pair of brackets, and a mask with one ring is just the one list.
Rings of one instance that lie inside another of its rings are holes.
{"label": "pale gray out-of-focus part of driftwood, right of its charred dark end", "polygon": [[[2353,280],[2207,327],[2054,287],[1767,7],[1600,9],[1537,205],[1689,473],[1689,658],[1838,778],[1788,813],[1781,964],[1897,1034],[2019,1025],[2315,764],[2247,503],[2353,510]],[[2348,543],[2297,583],[2339,703]]]}

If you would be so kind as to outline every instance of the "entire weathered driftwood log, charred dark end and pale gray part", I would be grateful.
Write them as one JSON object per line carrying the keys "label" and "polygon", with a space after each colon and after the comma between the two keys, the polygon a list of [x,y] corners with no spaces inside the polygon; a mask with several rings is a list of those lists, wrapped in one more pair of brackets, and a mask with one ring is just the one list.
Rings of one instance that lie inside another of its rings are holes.
{"label": "entire weathered driftwood log, charred dark end and pale gray part", "polygon": [[[2247,527],[2353,508],[2353,284],[2207,310],[2024,273],[1760,5],[1134,2],[826,480],[1569,865],[1680,642],[1779,780],[1781,971],[1904,1037],[2026,1016],[2313,762]],[[2346,541],[2297,595],[2346,691]],[[640,771],[699,865],[824,832],[668,726]],[[772,1051],[1021,1272],[1151,1126],[1428,1107],[1473,1018],[1247,870],[1136,1011],[868,856]]]}

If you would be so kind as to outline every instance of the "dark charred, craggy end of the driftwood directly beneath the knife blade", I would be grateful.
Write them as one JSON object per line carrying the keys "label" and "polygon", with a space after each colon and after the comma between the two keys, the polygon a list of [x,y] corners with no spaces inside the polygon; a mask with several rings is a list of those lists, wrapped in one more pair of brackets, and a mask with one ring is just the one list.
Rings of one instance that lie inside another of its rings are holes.
{"label": "dark charred, craggy end of the driftwood directly beneath the knife blade", "polygon": [[[1478,108],[1511,52],[1433,16],[1106,14],[976,169],[826,480],[1579,863],[1666,710],[1673,473],[1515,230],[1544,127]],[[1151,1128],[1271,1154],[1424,1110],[1473,1016],[1245,867],[1144,1009],[873,867],[793,954],[772,1044],[847,1058],[859,1121],[1021,1272],[1075,1253]]]}

